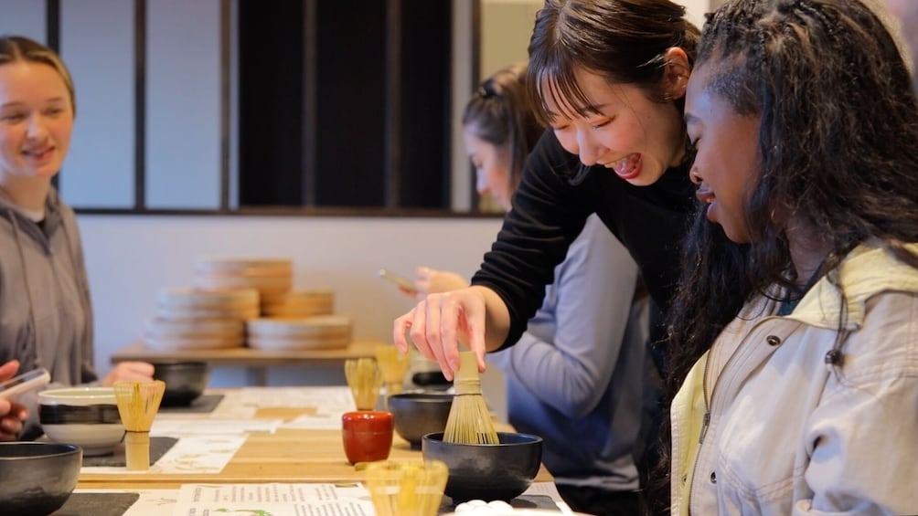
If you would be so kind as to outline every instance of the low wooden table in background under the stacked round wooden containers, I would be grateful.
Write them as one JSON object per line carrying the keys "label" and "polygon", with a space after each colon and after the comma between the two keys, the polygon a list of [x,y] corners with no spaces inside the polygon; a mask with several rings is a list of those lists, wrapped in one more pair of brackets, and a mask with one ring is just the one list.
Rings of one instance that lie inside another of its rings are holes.
{"label": "low wooden table in background under the stacked round wooden containers", "polygon": [[[313,349],[306,351],[263,351],[251,347],[230,349],[201,349],[191,351],[153,351],[138,341],[124,346],[111,356],[111,363],[128,360],[150,361],[205,361],[211,366],[247,368],[249,383],[267,385],[267,368],[277,366],[308,366],[343,364],[348,358],[374,357],[374,347],[383,345],[378,340],[355,340],[341,349]],[[343,366],[342,366],[343,367]],[[342,369],[343,370],[343,369]]]}

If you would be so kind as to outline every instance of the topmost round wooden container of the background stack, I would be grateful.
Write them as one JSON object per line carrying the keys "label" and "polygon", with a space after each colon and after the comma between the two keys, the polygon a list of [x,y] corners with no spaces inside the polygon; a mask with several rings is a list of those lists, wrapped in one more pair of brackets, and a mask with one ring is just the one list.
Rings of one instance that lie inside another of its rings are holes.
{"label": "topmost round wooden container of the background stack", "polygon": [[195,285],[203,290],[254,289],[262,295],[289,292],[293,260],[289,258],[201,258]]}

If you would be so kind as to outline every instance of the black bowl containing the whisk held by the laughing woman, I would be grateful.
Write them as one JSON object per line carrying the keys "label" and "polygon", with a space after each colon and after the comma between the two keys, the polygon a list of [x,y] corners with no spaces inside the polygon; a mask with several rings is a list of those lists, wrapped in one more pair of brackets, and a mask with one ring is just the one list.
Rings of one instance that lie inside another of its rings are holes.
{"label": "black bowl containing the whisk held by the laughing woman", "polygon": [[467,500],[512,500],[529,489],[542,464],[542,437],[498,432],[498,445],[443,442],[443,433],[424,435],[424,460],[442,460],[450,470],[446,496]]}

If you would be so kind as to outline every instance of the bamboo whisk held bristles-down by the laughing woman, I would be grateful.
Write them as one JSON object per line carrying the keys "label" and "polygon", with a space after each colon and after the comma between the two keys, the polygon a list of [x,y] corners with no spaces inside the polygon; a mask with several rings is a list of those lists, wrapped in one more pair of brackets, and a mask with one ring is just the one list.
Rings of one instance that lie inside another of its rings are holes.
{"label": "bamboo whisk held bristles-down by the laughing woman", "polygon": [[459,370],[453,386],[456,394],[443,431],[444,443],[460,445],[497,445],[498,433],[481,395],[481,379],[473,351],[459,353]]}

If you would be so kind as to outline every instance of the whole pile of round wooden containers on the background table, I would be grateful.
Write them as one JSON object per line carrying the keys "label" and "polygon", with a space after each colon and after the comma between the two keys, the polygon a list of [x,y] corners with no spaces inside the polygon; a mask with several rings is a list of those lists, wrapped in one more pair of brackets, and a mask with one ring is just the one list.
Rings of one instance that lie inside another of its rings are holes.
{"label": "whole pile of round wooden containers on the background table", "polygon": [[160,293],[144,341],[158,350],[335,349],[351,344],[352,328],[334,314],[334,292],[293,290],[290,258],[200,258],[195,289]]}

